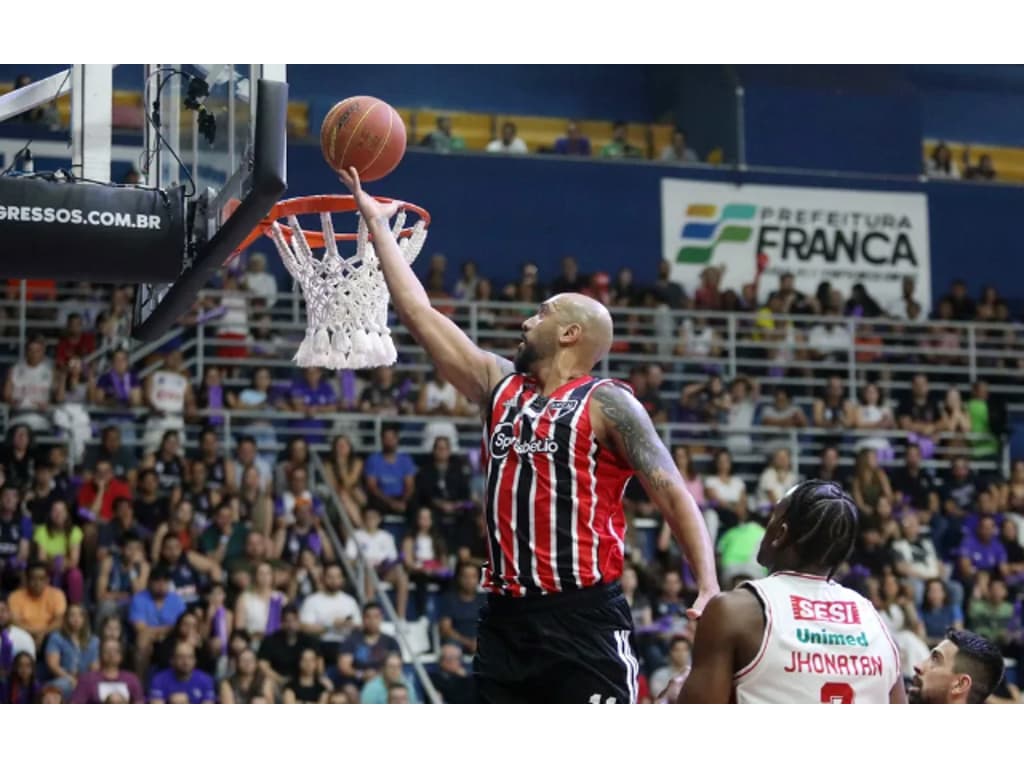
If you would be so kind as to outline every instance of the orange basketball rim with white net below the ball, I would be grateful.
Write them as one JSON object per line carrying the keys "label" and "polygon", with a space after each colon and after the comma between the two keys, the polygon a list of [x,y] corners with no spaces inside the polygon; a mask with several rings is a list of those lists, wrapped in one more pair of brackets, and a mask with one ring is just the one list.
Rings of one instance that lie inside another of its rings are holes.
{"label": "orange basketball rim with white net below the ball", "polygon": [[[382,204],[392,201],[376,198]],[[412,264],[427,239],[430,214],[400,203],[391,226],[398,248]],[[266,234],[278,247],[288,271],[302,288],[306,302],[306,335],[293,357],[301,368],[365,369],[392,366],[397,358],[387,326],[390,298],[367,222],[355,232],[336,232],[331,215],[356,210],[351,195],[319,195],[278,203],[239,251]],[[416,223],[406,226],[408,213]],[[321,229],[303,229],[299,216],[318,214]],[[282,224],[279,219],[287,219]],[[342,256],[339,242],[354,242],[355,254]],[[321,258],[314,248],[325,249]]]}

